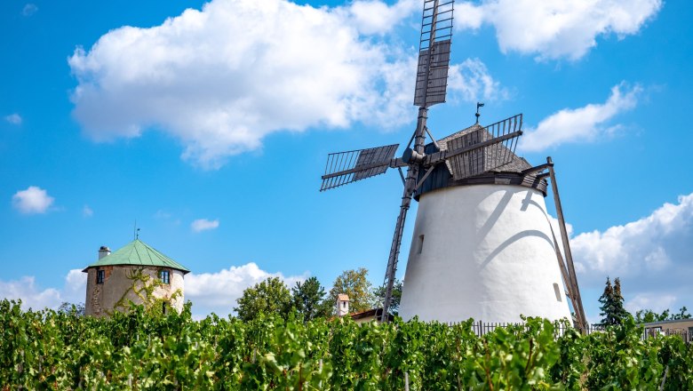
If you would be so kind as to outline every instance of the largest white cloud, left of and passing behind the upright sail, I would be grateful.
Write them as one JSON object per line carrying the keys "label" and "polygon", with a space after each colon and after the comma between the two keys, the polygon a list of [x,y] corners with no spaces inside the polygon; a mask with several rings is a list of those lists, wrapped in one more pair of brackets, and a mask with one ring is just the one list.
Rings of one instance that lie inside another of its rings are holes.
{"label": "largest white cloud, left of and passing behind the upright sail", "polygon": [[[74,116],[93,140],[168,132],[207,169],[273,132],[405,124],[416,53],[386,34],[420,6],[212,0],[160,26],[116,28],[68,60]],[[463,98],[499,89],[478,60],[452,75]]]}

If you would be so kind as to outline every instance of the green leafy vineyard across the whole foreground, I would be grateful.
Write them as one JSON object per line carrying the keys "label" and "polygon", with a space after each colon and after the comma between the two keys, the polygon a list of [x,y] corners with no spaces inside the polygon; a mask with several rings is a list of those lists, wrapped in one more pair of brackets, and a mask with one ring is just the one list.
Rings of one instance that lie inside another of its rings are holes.
{"label": "green leafy vineyard across the whole foreground", "polygon": [[693,389],[693,348],[641,339],[632,320],[587,336],[532,318],[471,325],[195,321],[189,306],[105,320],[3,300],[0,389]]}

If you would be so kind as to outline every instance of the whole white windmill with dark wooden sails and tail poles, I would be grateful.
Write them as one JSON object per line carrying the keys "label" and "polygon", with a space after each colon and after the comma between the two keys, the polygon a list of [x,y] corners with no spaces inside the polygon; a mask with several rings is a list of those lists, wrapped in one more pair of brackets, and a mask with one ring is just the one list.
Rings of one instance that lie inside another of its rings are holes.
{"label": "whole white windmill with dark wooden sails and tail poles", "polygon": [[[402,156],[394,157],[399,144],[330,154],[320,190],[364,180],[388,168],[400,172],[404,189],[387,259],[382,314],[390,306],[402,231],[414,198],[419,207],[402,317],[455,322],[471,316],[510,322],[523,314],[558,319],[570,316],[562,300],[568,296],[582,329],[585,314],[554,164],[548,158],[546,164],[532,166],[514,154],[522,135],[522,114],[482,126],[478,122],[483,104],[478,103],[476,124],[463,131],[435,140],[426,126],[428,108],[445,101],[453,3],[424,1],[414,92],[418,119]],[[431,139],[428,144],[426,136]],[[406,176],[402,168],[407,169]],[[554,190],[565,259],[544,204],[547,177]]]}

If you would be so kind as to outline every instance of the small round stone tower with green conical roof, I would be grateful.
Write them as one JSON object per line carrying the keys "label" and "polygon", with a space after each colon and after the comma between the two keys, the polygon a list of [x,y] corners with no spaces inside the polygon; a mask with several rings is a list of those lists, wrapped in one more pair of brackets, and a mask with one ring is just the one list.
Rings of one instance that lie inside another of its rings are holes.
{"label": "small round stone tower with green conical roof", "polygon": [[155,303],[164,313],[171,308],[180,312],[183,276],[190,270],[135,239],[113,253],[102,246],[99,260],[83,272],[88,275],[85,314],[108,316],[113,311],[126,310],[129,301]]}

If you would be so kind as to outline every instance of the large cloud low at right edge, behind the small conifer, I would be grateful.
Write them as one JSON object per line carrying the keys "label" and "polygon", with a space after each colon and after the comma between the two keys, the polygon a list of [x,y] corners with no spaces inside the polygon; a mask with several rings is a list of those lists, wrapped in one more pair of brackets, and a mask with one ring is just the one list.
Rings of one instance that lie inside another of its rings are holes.
{"label": "large cloud low at right edge, behind the small conifer", "polygon": [[607,275],[620,277],[631,311],[693,306],[693,194],[637,221],[577,235],[570,246],[581,286],[603,289]]}

